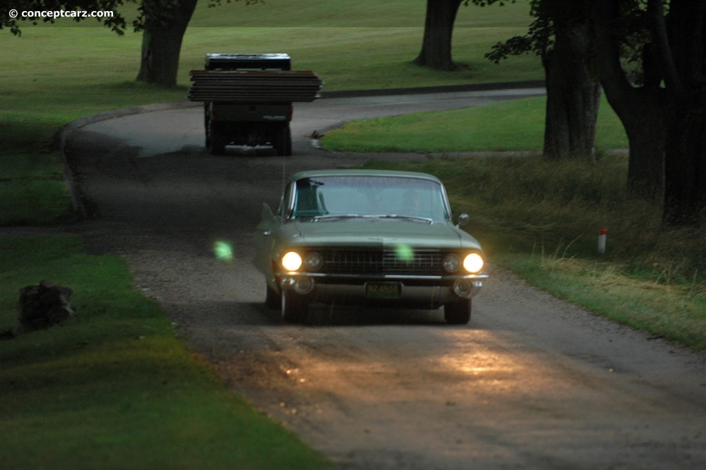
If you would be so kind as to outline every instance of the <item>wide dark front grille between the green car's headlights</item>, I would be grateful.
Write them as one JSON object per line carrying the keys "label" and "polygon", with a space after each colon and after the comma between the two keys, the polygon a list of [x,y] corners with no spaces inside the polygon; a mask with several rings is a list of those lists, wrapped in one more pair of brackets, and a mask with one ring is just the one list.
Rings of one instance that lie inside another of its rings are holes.
{"label": "wide dark front grille between the green car's headlights", "polygon": [[321,249],[320,272],[325,274],[443,274],[443,253],[438,249]]}

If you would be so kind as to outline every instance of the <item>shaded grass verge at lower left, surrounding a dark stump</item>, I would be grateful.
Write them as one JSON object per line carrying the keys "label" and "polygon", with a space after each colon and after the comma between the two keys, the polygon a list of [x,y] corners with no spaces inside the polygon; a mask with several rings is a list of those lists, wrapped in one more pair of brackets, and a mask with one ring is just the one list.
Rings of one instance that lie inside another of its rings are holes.
{"label": "shaded grass verge at lower left, surrounding a dark stump", "polygon": [[0,341],[3,469],[330,468],[213,376],[121,258],[73,236],[0,237],[0,253],[0,329],[41,278],[71,286],[76,310]]}

